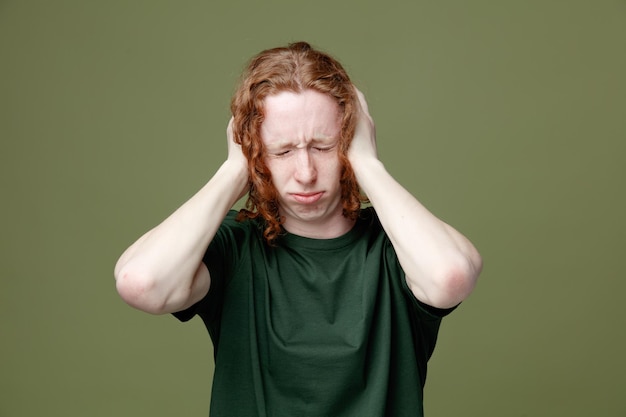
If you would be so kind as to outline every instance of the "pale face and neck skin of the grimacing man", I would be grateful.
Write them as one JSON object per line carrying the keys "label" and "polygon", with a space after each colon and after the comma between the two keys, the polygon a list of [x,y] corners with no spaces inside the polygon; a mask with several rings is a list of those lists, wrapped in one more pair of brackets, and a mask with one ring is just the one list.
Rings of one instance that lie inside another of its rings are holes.
{"label": "pale face and neck skin of the grimacing man", "polygon": [[285,91],[266,99],[261,138],[287,231],[333,238],[352,227],[342,215],[340,133],[339,107],[325,94]]}

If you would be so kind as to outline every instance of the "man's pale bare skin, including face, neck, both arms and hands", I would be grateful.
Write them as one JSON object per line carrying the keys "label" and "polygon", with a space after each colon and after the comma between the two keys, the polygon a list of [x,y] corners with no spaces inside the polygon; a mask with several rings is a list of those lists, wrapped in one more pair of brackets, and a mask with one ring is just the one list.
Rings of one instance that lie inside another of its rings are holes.
{"label": "man's pale bare skin, including face, neck, both arms and hands", "polygon": [[[377,157],[376,132],[363,94],[348,158],[396,250],[413,295],[433,307],[452,307],[473,290],[482,269],[476,248],[430,213]],[[291,233],[313,238],[344,234],[341,214],[337,105],[314,91],[266,98],[261,137]],[[206,295],[211,278],[202,256],[228,210],[247,192],[247,162],[227,129],[228,158],[211,180],[120,257],[117,290],[131,306],[165,314]]]}

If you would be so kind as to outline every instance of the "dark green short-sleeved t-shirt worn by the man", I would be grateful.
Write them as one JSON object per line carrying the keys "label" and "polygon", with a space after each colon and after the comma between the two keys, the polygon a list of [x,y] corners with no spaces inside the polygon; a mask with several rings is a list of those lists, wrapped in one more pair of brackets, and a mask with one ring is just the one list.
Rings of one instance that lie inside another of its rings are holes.
{"label": "dark green short-sleeved t-shirt worn by the man", "polygon": [[211,417],[422,416],[441,318],[407,287],[373,208],[334,239],[286,233],[231,211],[204,257],[202,317],[215,348]]}

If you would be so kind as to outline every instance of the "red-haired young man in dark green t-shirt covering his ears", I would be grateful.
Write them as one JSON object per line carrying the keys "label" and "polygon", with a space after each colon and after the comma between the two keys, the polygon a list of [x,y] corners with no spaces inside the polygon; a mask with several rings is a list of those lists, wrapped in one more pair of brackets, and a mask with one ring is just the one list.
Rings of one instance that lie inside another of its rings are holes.
{"label": "red-haired young man in dark green t-shirt covering his ears", "polygon": [[385,170],[366,101],[328,55],[263,51],[231,110],[227,160],[124,252],[119,294],[203,319],[212,417],[423,415],[441,319],[480,255]]}

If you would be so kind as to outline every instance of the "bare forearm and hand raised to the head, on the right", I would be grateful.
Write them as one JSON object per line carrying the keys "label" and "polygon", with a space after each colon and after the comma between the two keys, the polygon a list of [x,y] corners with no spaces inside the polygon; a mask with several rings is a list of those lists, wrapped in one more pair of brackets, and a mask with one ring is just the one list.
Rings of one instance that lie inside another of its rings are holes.
{"label": "bare forearm and hand raised to the head, on the right", "polygon": [[374,122],[357,90],[361,114],[349,151],[357,181],[389,235],[409,288],[433,307],[455,306],[473,290],[482,260],[472,243],[428,211],[386,170],[376,154]]}

